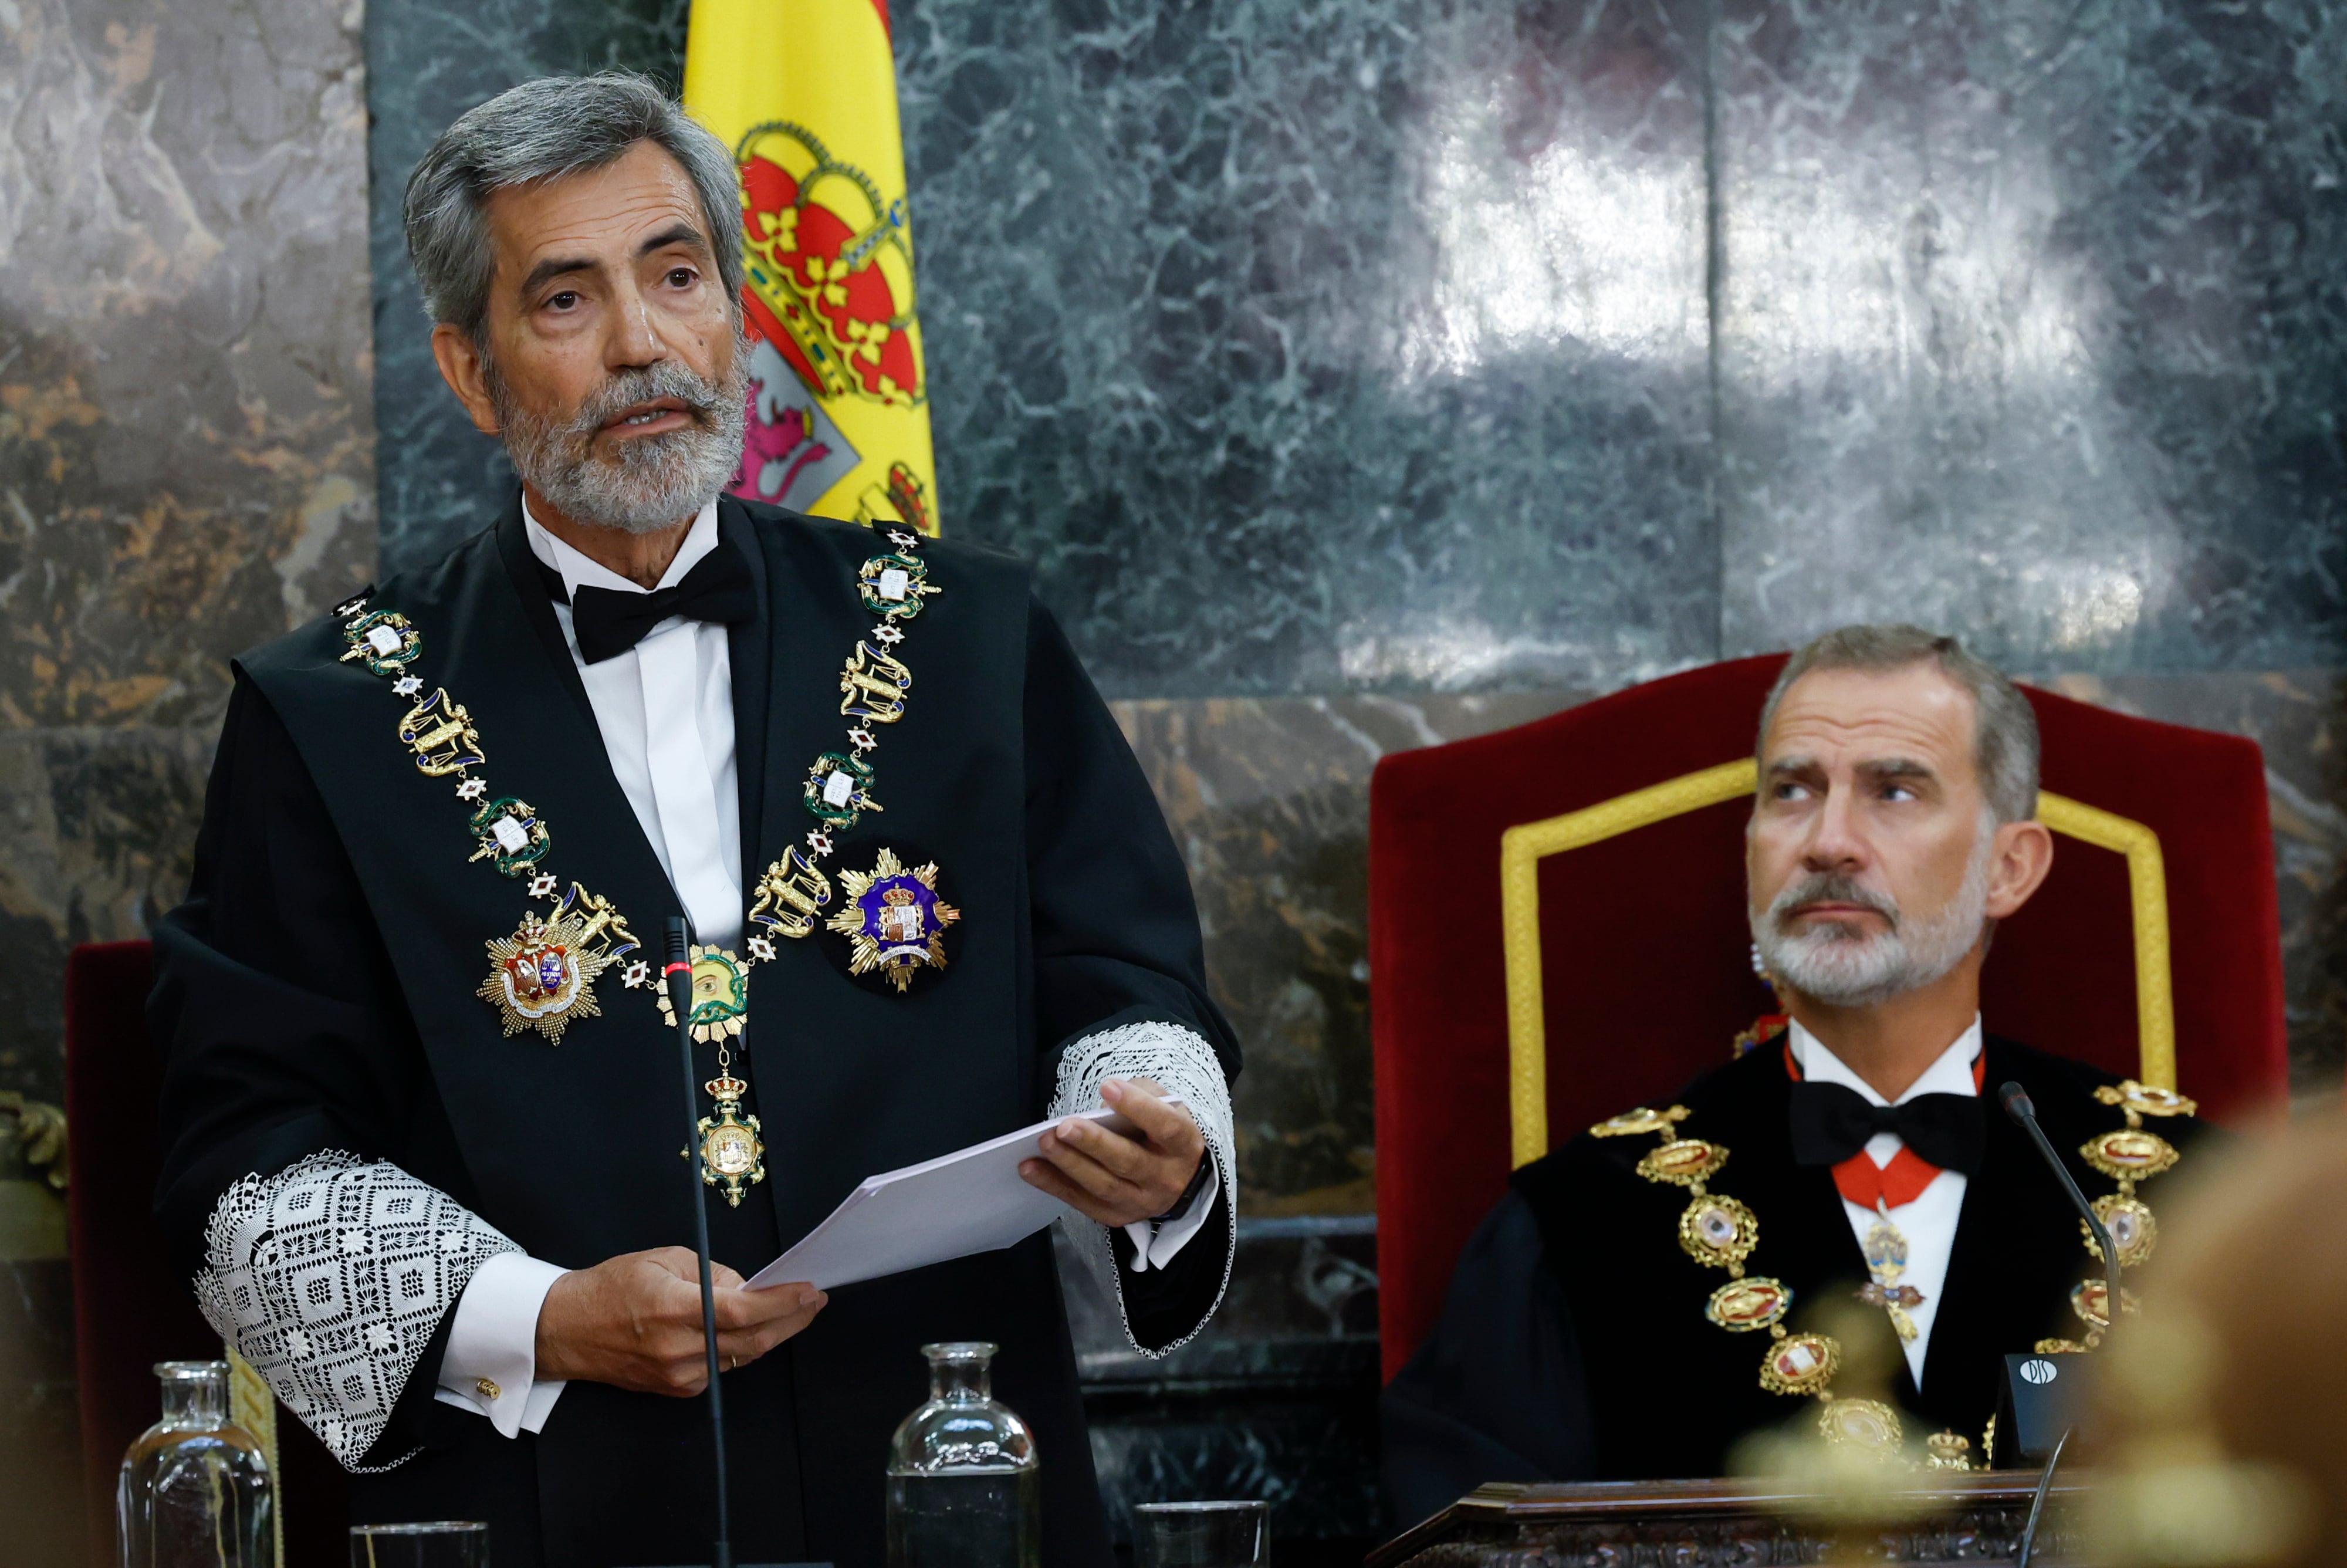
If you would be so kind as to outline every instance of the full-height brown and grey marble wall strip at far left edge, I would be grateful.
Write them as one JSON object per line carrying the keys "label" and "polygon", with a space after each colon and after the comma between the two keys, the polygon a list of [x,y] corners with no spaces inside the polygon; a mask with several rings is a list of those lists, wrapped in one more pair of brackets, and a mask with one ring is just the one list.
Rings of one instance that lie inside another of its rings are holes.
{"label": "full-height brown and grey marble wall strip at far left edge", "polygon": [[[66,948],[185,894],[228,657],[373,568],[361,80],[357,5],[0,5],[0,1089],[61,1099]],[[0,1162],[7,1556],[80,1563],[63,1249]]]}

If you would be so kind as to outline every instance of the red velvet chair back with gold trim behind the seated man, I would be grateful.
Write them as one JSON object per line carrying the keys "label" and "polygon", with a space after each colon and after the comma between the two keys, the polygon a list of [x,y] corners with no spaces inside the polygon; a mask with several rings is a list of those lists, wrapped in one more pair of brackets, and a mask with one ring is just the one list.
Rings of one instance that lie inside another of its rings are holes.
{"label": "red velvet chair back with gold trim behind the seated man", "polygon": [[[1751,972],[1744,819],[1760,702],[1781,667],[1711,664],[1378,765],[1368,955],[1387,1378],[1432,1329],[1514,1164],[1544,1153],[1551,1129],[1563,1141],[1669,1096],[1774,1012]],[[2028,697],[2054,873],[1997,932],[1988,1026],[2145,1082],[2166,1066],[2218,1120],[2279,1103],[2281,930],[2255,742]]]}

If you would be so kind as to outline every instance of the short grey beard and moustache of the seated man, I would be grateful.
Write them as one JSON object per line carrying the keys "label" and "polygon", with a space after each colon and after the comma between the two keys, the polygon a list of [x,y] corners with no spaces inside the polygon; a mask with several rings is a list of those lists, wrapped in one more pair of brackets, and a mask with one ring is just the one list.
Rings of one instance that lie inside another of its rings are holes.
{"label": "short grey beard and moustache of the seated man", "polygon": [[[1828,1007],[1873,1007],[1941,979],[1974,948],[1988,925],[1988,866],[1995,857],[1995,819],[1981,822],[1964,885],[1932,915],[1901,915],[1899,906],[1847,878],[1812,876],[1786,885],[1751,915],[1760,962],[1784,986]],[[1814,899],[1866,904],[1889,920],[1880,937],[1861,937],[1842,925],[1786,932],[1784,918]]]}

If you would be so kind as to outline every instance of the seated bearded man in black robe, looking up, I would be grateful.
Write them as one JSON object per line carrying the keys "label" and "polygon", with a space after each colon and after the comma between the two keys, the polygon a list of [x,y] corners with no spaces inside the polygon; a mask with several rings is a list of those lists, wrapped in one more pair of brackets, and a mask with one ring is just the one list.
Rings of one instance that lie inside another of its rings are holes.
{"label": "seated bearded man in black robe, looking up", "polygon": [[[1385,1392],[1401,1519],[1483,1481],[1723,1474],[1786,1422],[1981,1458],[2002,1357],[2091,1347],[2105,1296],[1983,1084],[2028,1089],[2124,1265],[2150,1249],[2143,1171],[2079,1150],[2143,1117],[2187,1143],[2190,1101],[1981,1028],[1995,925],[2054,859],[2014,683],[1955,638],[1833,631],[1770,692],[1758,763],[1751,932],[1788,1026],[1514,1174]],[[1889,1387],[1835,1390],[1849,1366]]]}

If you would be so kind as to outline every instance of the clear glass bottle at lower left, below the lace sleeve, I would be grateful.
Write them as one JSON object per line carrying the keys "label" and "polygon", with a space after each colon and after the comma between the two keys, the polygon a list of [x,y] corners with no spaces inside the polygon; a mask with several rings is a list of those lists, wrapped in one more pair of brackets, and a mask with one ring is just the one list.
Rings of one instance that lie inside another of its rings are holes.
{"label": "clear glass bottle at lower left, below the lace sleeve", "polygon": [[228,1420],[228,1361],[157,1361],[162,1420],[122,1455],[122,1568],[277,1568],[268,1455]]}

